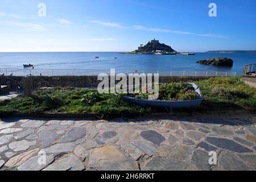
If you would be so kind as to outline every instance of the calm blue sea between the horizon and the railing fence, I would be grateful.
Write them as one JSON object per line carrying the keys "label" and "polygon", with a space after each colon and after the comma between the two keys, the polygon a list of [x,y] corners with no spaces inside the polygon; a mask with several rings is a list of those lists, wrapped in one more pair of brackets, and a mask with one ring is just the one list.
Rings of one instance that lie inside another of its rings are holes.
{"label": "calm blue sea between the horizon and the railing fence", "polygon": [[[99,56],[99,59],[94,59]],[[233,67],[197,64],[197,60],[230,57]],[[118,59],[114,59],[117,57]],[[256,63],[256,53],[196,53],[188,55],[126,55],[119,52],[36,52],[0,53],[0,68],[23,68],[33,64],[35,69],[170,69],[171,71],[236,71],[243,65]]]}

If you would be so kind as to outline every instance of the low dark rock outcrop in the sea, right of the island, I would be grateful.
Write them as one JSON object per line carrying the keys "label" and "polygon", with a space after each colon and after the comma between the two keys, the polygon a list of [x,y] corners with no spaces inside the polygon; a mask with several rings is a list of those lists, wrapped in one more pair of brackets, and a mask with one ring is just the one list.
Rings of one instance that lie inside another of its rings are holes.
{"label": "low dark rock outcrop in the sea, right of the island", "polygon": [[216,59],[210,58],[207,60],[200,60],[197,61],[196,63],[199,64],[207,64],[207,65],[214,65],[214,66],[233,66],[233,60],[229,59],[228,57],[218,57]]}

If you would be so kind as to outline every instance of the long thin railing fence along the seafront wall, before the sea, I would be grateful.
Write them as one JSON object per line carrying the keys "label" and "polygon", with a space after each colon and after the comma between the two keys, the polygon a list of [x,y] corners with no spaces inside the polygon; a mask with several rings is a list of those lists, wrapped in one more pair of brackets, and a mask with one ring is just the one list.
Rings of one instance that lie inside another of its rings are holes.
{"label": "long thin railing fence along the seafront wall, before the sea", "polygon": [[[13,69],[0,68],[5,76],[98,76],[100,73],[110,75],[110,69]],[[171,71],[155,69],[115,69],[115,74],[125,73],[159,73],[159,76],[236,76],[236,72],[223,71]]]}

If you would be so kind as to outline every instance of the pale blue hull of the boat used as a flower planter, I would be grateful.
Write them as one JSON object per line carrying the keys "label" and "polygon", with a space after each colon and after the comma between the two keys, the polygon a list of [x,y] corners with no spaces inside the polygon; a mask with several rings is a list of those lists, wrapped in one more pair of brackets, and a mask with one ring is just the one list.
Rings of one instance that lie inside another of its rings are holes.
{"label": "pale blue hull of the boat used as a flower planter", "polygon": [[154,106],[154,107],[171,107],[171,108],[191,108],[191,107],[199,107],[201,102],[203,101],[203,96],[201,94],[201,90],[199,86],[195,83],[189,83],[195,88],[195,92],[199,94],[199,98],[195,100],[177,100],[177,101],[166,101],[166,100],[144,100],[138,99],[133,97],[123,96],[122,99],[126,101],[130,101],[133,104],[147,107],[147,106]]}

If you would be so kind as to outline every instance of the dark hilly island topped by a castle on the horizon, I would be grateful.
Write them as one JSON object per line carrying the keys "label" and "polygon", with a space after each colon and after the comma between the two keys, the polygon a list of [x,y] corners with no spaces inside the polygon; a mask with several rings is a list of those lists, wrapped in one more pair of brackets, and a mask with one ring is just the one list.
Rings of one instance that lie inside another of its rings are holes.
{"label": "dark hilly island topped by a castle on the horizon", "polygon": [[127,54],[147,54],[147,55],[195,55],[191,52],[177,52],[171,46],[160,43],[159,40],[151,40],[146,45],[141,44],[137,50],[125,52]]}

